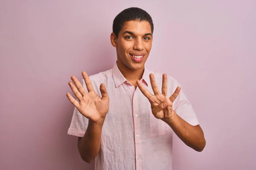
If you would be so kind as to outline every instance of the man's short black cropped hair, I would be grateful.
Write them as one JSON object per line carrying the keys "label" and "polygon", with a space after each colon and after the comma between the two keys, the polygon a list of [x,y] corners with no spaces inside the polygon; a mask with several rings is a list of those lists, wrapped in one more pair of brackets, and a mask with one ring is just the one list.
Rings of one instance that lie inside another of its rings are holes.
{"label": "man's short black cropped hair", "polygon": [[123,25],[126,21],[148,21],[151,26],[151,33],[153,34],[154,24],[151,16],[141,8],[131,7],[123,10],[118,15],[116,15],[113,21],[113,33],[118,38],[118,34],[121,31]]}

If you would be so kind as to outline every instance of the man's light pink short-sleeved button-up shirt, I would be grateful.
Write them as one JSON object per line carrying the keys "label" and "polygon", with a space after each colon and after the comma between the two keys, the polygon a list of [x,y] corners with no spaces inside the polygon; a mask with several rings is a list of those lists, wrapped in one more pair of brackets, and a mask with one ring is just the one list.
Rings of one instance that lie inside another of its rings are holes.
{"label": "man's light pink short-sleeved button-up shirt", "polygon": [[[145,68],[140,81],[154,94],[150,73],[154,74],[161,92],[162,74]],[[104,83],[110,98],[95,170],[172,170],[172,128],[153,116],[150,103],[140,89],[135,89],[123,77],[116,63],[112,69],[90,76],[90,80],[100,97],[99,85]],[[81,83],[87,91],[84,80]],[[180,86],[178,82],[168,77],[168,96],[177,86]],[[173,108],[189,124],[199,124],[182,89]],[[87,125],[88,119],[75,108],[68,134],[83,137]]]}

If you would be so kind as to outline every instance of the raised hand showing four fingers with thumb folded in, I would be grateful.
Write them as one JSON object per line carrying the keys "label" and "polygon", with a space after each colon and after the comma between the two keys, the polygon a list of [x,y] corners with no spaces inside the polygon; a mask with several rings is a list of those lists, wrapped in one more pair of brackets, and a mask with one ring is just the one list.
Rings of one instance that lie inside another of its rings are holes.
{"label": "raised hand showing four fingers with thumb folded in", "polygon": [[152,90],[154,95],[152,95],[140,82],[137,80],[137,86],[140,88],[140,91],[146,96],[151,104],[151,109],[153,115],[157,119],[169,119],[173,115],[172,103],[180,93],[180,87],[177,87],[175,92],[167,97],[167,75],[163,74],[163,82],[162,82],[162,94],[157,87],[157,82],[154,79],[154,74],[149,75]]}

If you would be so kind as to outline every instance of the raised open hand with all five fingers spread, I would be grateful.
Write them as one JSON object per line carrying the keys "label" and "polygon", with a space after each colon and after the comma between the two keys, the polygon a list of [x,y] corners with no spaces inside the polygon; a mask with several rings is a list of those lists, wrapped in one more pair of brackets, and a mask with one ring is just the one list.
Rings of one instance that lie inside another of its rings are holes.
{"label": "raised open hand with all five fingers spread", "polygon": [[100,98],[94,91],[93,85],[86,72],[83,71],[82,76],[84,77],[88,93],[85,91],[79,80],[75,76],[71,76],[71,79],[75,85],[73,84],[73,82],[68,82],[68,84],[70,85],[71,90],[73,91],[79,102],[74,99],[70,93],[67,93],[67,98],[82,115],[97,123],[100,120],[105,119],[105,116],[108,113],[108,93],[105,85],[102,83],[100,85],[100,92],[102,94],[102,98]]}

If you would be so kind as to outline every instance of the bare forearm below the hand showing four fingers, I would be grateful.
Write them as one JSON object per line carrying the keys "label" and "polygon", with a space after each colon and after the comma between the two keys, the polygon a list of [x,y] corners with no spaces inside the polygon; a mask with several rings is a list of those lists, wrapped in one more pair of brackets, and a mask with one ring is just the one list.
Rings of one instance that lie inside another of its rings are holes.
{"label": "bare forearm below the hand showing four fingers", "polygon": [[206,144],[203,130],[199,125],[192,126],[175,113],[170,119],[163,119],[175,134],[189,147],[201,152]]}

